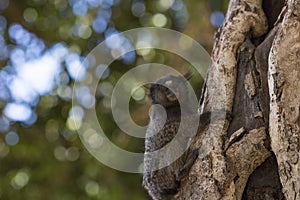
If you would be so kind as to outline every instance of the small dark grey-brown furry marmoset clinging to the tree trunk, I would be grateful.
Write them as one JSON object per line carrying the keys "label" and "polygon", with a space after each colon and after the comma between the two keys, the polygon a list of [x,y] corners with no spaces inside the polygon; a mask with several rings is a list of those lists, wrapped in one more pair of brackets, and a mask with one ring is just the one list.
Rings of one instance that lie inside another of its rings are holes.
{"label": "small dark grey-brown furry marmoset clinging to the tree trunk", "polygon": [[[198,118],[196,116],[197,108],[193,109],[190,104],[187,80],[183,76],[168,75],[160,78],[155,84],[151,84],[148,95],[153,105],[158,104],[165,111],[158,107],[150,113],[145,137],[143,186],[154,200],[171,199],[178,192],[180,181],[187,175],[198,156],[198,150],[187,147],[193,139],[189,138],[192,135],[190,132],[196,130],[197,133],[198,127],[196,129],[191,127],[197,124],[195,119],[199,120],[199,116]],[[166,121],[163,118],[166,118]],[[209,119],[209,116],[206,118]],[[166,154],[156,156],[170,160],[173,150],[183,153],[174,162],[171,159],[170,163],[163,165],[165,167],[159,168],[163,160],[157,160],[151,153],[160,150],[174,139],[180,123],[183,123],[184,134],[187,133],[186,138],[179,141],[178,145]]]}

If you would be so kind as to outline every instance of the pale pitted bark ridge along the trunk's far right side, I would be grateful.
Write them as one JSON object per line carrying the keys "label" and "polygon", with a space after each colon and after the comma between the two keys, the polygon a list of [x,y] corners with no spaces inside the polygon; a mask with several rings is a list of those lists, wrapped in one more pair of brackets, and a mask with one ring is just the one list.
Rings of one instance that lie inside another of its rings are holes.
{"label": "pale pitted bark ridge along the trunk's far right side", "polygon": [[282,191],[300,199],[300,1],[290,0],[269,55],[270,137]]}

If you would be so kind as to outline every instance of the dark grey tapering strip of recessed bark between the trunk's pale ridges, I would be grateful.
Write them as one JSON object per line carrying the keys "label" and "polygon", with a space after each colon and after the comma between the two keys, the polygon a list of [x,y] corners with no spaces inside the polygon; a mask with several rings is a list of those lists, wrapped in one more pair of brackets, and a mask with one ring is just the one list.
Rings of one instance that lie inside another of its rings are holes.
{"label": "dark grey tapering strip of recessed bark between the trunk's pale ridges", "polygon": [[247,131],[258,127],[266,127],[260,107],[258,92],[262,81],[255,67],[255,46],[246,38],[237,53],[236,95],[233,103],[233,120],[228,129],[230,137],[235,131],[244,127]]}

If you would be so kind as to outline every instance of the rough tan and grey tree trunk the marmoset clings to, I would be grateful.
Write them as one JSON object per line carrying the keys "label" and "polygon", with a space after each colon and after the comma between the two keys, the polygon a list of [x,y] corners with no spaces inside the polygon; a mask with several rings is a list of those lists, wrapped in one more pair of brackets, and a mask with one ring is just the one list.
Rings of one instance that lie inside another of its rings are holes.
{"label": "rough tan and grey tree trunk the marmoset clings to", "polygon": [[300,0],[231,0],[215,36],[199,157],[175,199],[300,199]]}

